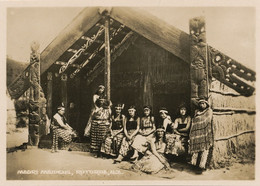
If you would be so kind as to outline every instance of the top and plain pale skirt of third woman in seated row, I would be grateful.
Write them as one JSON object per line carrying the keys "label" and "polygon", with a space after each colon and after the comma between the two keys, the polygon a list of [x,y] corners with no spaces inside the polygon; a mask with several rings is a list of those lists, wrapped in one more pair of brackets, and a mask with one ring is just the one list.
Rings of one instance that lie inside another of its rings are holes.
{"label": "top and plain pale skirt of third woman in seated row", "polygon": [[[143,134],[149,134],[153,129],[155,129],[154,117],[142,117],[139,131]],[[151,133],[148,136],[137,134],[131,146],[138,152],[145,153],[148,148],[148,142],[151,138],[154,138],[154,133]]]}

